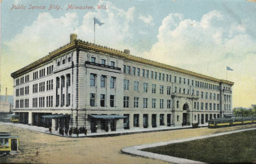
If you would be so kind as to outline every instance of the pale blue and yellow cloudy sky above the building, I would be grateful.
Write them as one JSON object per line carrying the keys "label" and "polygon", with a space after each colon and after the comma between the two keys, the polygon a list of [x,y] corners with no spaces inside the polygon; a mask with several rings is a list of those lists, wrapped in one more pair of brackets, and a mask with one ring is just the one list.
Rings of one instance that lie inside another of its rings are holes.
{"label": "pale blue and yellow cloudy sky above the building", "polygon": [[70,33],[93,42],[93,17],[104,23],[96,44],[227,79],[233,107],[256,104],[256,3],[245,0],[3,0],[0,94],[13,93],[12,72],[67,44]]}

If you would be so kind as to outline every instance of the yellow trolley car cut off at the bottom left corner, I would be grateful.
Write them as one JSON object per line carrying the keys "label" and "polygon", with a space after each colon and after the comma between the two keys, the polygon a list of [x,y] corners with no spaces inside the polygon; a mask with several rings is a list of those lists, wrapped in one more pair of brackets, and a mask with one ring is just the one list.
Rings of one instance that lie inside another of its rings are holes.
{"label": "yellow trolley car cut off at the bottom left corner", "polygon": [[0,132],[0,154],[7,155],[18,151],[19,137],[7,132]]}

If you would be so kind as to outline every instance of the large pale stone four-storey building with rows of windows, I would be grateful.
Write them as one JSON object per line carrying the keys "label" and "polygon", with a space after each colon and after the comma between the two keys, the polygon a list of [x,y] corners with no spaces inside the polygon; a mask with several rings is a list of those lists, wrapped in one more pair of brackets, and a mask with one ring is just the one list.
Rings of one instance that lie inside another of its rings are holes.
{"label": "large pale stone four-storey building with rows of windows", "polygon": [[21,123],[99,132],[205,124],[232,114],[230,81],[76,37],[11,74]]}

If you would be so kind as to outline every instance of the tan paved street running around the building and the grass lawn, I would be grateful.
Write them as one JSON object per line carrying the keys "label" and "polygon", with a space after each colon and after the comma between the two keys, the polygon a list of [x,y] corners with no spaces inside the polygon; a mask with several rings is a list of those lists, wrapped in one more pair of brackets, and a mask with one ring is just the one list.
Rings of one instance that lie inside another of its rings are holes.
{"label": "tan paved street running around the building and the grass lawn", "polygon": [[182,139],[256,125],[220,129],[183,129],[151,133],[130,134],[100,138],[68,138],[7,126],[0,123],[0,131],[18,134],[20,150],[18,155],[1,157],[1,163],[167,163],[161,160],[123,154],[122,148],[154,142]]}

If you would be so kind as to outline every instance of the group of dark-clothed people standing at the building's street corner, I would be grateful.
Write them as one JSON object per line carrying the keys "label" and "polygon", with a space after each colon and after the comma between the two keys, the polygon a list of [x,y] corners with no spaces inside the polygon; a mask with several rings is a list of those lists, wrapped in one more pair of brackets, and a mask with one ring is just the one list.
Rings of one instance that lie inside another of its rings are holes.
{"label": "group of dark-clothed people standing at the building's street corner", "polygon": [[[52,134],[52,127],[49,127],[49,132],[50,134]],[[80,127],[78,128],[73,128],[71,127],[70,129],[63,129],[63,128],[59,128],[58,129],[58,133],[62,136],[64,136],[64,132],[65,132],[65,136],[69,136],[72,137],[72,134],[76,134],[76,136],[78,137],[80,133],[84,133],[85,135],[87,135],[87,129],[85,127]],[[69,135],[68,135],[69,133]]]}

